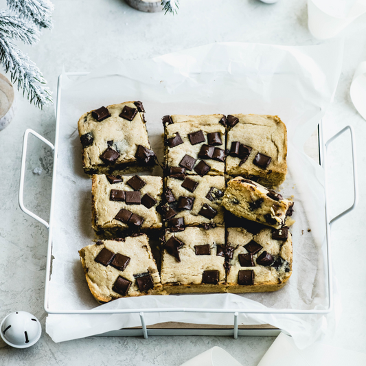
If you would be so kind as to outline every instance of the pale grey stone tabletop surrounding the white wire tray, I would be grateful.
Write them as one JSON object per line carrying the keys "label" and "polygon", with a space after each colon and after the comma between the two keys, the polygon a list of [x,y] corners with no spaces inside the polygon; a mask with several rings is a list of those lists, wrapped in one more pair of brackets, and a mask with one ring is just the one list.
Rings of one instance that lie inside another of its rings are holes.
{"label": "pale grey stone tabletop surrounding the white wire tray", "polygon": [[[123,0],[54,0],[54,30],[41,42],[23,47],[43,71],[56,97],[57,77],[67,71],[89,71],[111,58],[150,58],[185,48],[223,41],[315,45],[308,32],[306,0],[280,0],[266,5],[258,0],[181,0],[179,14],[146,14]],[[5,6],[5,0],[0,1]],[[342,313],[331,345],[366,352],[366,122],[350,100],[350,83],[359,62],[366,60],[366,15],[343,33],[343,70],[334,103],[325,118],[326,137],[347,124],[356,131],[360,200],[351,214],[332,228],[334,269],[342,297]],[[0,341],[1,365],[181,365],[214,345],[242,365],[255,366],[274,337],[166,336],[91,337],[54,343],[45,334],[43,310],[47,229],[23,214],[18,205],[21,144],[26,128],[54,141],[54,107],[43,111],[16,92],[14,120],[0,132],[0,319],[25,310],[43,325],[43,336],[33,347],[16,350]],[[52,153],[30,139],[25,205],[47,219],[52,182]],[[330,149],[330,200],[334,212],[352,203],[349,137]],[[41,175],[33,174],[36,167]]]}

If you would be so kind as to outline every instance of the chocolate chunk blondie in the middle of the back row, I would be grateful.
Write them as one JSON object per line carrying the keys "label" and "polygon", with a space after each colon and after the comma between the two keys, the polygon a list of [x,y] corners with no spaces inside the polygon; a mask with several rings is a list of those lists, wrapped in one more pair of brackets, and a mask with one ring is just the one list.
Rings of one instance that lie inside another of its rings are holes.
{"label": "chocolate chunk blondie in the middle of the back row", "polygon": [[180,167],[186,174],[225,173],[224,115],[166,115],[165,170]]}

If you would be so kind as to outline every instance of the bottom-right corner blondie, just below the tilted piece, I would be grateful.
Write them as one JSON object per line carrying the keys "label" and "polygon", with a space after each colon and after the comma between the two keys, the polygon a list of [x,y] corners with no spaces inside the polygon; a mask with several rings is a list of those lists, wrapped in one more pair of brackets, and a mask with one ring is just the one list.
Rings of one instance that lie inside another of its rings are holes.
{"label": "bottom-right corner blondie, just below the tilted piece", "polygon": [[233,247],[228,293],[279,290],[292,273],[293,244],[288,227],[264,228],[253,234],[243,228],[228,228],[227,243]]}

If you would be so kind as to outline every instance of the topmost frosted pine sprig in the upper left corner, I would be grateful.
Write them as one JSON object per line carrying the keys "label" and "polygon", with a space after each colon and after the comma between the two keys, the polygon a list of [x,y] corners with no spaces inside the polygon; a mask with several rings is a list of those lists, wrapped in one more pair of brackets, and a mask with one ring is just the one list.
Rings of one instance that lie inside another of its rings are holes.
{"label": "topmost frosted pine sprig in the upper left corner", "polygon": [[49,0],[6,0],[8,7],[21,19],[29,19],[37,27],[52,28],[51,15],[54,5]]}

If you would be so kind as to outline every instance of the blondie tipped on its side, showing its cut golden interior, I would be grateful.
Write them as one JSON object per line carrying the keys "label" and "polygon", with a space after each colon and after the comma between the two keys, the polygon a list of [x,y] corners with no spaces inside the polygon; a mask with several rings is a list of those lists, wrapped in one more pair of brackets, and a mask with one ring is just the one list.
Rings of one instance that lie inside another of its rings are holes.
{"label": "blondie tipped on its side, showing its cut golden interior", "polygon": [[293,214],[294,203],[259,183],[237,176],[227,182],[222,205],[236,216],[280,229]]}

